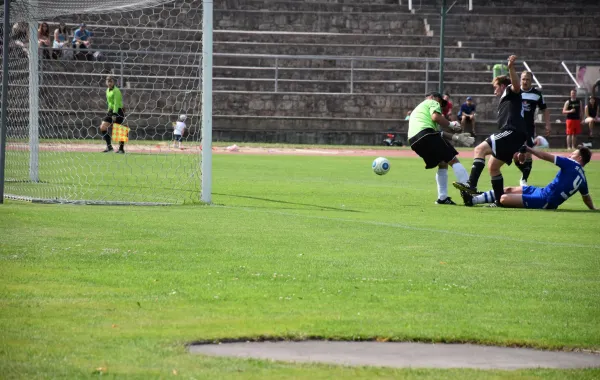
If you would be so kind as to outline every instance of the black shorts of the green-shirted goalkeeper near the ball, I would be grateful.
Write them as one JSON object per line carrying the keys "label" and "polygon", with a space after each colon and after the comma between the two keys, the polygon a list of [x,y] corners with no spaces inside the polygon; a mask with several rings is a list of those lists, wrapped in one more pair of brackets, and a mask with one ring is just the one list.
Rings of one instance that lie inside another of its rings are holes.
{"label": "black shorts of the green-shirted goalkeeper near the ball", "polygon": [[458,152],[440,134],[431,128],[425,129],[408,140],[410,148],[425,161],[425,169],[433,169],[440,163],[448,163]]}

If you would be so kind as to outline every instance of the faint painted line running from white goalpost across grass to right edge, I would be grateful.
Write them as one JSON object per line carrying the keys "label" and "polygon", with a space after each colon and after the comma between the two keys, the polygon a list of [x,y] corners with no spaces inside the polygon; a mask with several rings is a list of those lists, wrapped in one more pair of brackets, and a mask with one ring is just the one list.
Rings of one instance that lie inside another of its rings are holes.
{"label": "faint painted line running from white goalpost across grass to right edge", "polygon": [[442,229],[436,229],[436,228],[415,227],[415,226],[410,226],[410,225],[406,225],[406,224],[379,222],[379,221],[374,221],[374,220],[356,220],[356,219],[335,218],[335,217],[329,217],[329,216],[302,215],[302,214],[293,214],[293,213],[282,212],[282,211],[257,210],[257,209],[248,208],[248,207],[224,206],[224,205],[214,205],[213,207],[223,207],[223,208],[234,209],[234,210],[243,210],[243,211],[247,211],[247,212],[260,212],[260,213],[273,214],[273,215],[303,217],[303,218],[307,218],[307,219],[321,219],[321,220],[327,220],[327,221],[332,221],[332,222],[368,224],[368,225],[372,225],[372,226],[400,228],[403,230],[411,230],[411,231],[434,232],[434,233],[449,234],[449,235],[454,235],[454,236],[458,235],[458,236],[472,237],[472,238],[484,238],[484,239],[512,241],[512,242],[516,242],[516,243],[549,245],[552,247],[600,249],[600,245],[597,245],[597,244],[560,243],[560,242],[542,241],[542,240],[518,239],[518,238],[512,238],[512,237],[500,236],[500,235],[484,235],[484,234],[474,234],[474,233],[469,233],[469,232],[442,230]]}

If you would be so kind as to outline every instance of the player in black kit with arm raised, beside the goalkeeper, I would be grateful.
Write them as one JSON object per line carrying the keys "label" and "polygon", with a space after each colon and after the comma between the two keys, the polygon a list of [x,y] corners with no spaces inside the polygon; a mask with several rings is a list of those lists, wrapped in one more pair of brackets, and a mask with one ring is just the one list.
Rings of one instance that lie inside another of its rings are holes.
{"label": "player in black kit with arm raised, beside the goalkeeper", "polygon": [[[504,178],[500,168],[504,164],[510,165],[513,155],[521,150],[521,147],[523,147],[523,152],[525,151],[527,128],[523,118],[521,83],[515,71],[516,60],[517,57],[514,55],[508,57],[509,76],[498,76],[492,82],[494,95],[500,97],[500,104],[498,104],[500,131],[488,137],[475,148],[469,181],[454,182],[454,187],[461,191],[465,204],[467,204],[467,199],[471,199],[471,195],[477,194],[477,182],[485,167],[486,156],[492,156],[488,161],[488,169],[490,177],[492,177],[492,188],[496,199],[500,199],[504,194]],[[500,204],[496,203],[496,206],[500,206]]]}

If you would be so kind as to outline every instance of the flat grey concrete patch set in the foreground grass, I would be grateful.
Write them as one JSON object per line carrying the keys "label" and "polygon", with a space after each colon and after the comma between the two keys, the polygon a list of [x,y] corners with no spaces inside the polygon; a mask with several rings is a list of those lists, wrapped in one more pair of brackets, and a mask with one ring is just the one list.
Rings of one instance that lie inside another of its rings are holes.
{"label": "flat grey concrete patch set in the foreground grass", "polygon": [[392,342],[244,342],[197,344],[190,352],[302,363],[396,368],[589,368],[600,367],[600,355],[529,348]]}

